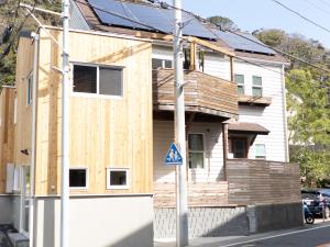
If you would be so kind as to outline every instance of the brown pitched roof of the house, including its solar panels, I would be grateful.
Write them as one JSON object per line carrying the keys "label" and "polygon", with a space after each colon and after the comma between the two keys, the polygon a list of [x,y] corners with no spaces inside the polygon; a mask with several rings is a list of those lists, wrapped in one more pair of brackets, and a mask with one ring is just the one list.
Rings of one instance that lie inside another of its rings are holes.
{"label": "brown pitched roof of the house, including its solar panels", "polygon": [[[152,33],[168,34],[173,29],[170,8],[163,9],[152,3],[118,0],[76,0],[75,3],[90,30],[155,38]],[[250,33],[234,34],[215,30],[186,12],[183,13],[183,18],[187,21],[185,35],[205,38],[221,47],[232,48],[241,57],[287,63]],[[153,26],[158,31],[154,31]]]}

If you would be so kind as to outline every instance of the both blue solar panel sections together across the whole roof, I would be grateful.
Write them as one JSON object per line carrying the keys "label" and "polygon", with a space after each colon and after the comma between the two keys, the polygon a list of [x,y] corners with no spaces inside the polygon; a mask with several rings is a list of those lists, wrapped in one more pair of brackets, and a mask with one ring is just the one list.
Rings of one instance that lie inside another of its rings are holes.
{"label": "both blue solar panel sections together across the whole roof", "polygon": [[[136,4],[117,0],[88,0],[100,22],[106,25],[114,25],[145,31],[161,31],[163,33],[173,33],[174,10],[163,9],[154,5]],[[235,34],[220,30],[209,31],[194,15],[183,12],[184,35],[190,35],[208,40],[224,41],[233,49],[272,54],[275,52],[251,42]],[[251,34],[241,34],[250,40],[258,42]]]}

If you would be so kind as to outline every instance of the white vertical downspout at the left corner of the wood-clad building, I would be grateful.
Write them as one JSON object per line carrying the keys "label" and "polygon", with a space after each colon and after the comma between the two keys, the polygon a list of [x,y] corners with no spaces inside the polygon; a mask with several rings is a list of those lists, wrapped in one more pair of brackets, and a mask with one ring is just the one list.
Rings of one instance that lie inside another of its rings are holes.
{"label": "white vertical downspout at the left corner of the wood-clad building", "polygon": [[30,212],[29,212],[29,235],[30,247],[34,246],[34,209],[35,209],[35,135],[36,135],[36,83],[37,83],[37,56],[38,56],[38,34],[32,33],[34,40],[33,57],[33,89],[32,89],[32,136],[31,136],[31,166],[30,166]]}

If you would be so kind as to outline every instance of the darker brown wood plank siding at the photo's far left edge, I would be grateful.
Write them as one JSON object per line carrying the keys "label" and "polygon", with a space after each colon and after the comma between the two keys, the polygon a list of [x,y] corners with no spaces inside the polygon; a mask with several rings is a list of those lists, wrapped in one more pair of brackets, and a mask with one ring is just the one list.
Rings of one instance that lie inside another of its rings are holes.
{"label": "darker brown wood plank siding at the photo's far left edge", "polygon": [[6,191],[7,164],[13,161],[15,125],[13,123],[14,88],[2,88],[0,92],[0,193]]}

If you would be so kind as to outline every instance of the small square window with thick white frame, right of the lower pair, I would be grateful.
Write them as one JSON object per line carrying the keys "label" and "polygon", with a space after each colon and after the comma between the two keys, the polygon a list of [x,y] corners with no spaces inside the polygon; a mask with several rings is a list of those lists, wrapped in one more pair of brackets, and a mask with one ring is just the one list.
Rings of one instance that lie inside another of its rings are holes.
{"label": "small square window with thick white frame, right of the lower pair", "polygon": [[107,189],[128,189],[128,169],[107,169]]}

